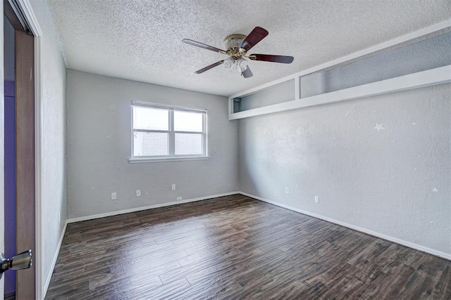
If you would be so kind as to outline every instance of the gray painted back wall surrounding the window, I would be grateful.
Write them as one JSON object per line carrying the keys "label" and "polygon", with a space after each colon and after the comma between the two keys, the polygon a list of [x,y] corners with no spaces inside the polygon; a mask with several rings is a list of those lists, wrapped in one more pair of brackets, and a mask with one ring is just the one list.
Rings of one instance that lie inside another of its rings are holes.
{"label": "gray painted back wall surrounding the window", "polygon": [[[68,218],[237,190],[237,122],[227,119],[226,97],[75,70],[67,84]],[[130,100],[206,108],[211,158],[130,164]]]}

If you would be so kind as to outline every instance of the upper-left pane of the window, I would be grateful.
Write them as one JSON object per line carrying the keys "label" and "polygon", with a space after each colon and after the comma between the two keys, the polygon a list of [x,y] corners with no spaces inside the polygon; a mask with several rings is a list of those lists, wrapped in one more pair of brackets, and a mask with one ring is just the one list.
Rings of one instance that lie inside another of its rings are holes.
{"label": "upper-left pane of the window", "polygon": [[169,111],[133,106],[133,129],[168,130]]}

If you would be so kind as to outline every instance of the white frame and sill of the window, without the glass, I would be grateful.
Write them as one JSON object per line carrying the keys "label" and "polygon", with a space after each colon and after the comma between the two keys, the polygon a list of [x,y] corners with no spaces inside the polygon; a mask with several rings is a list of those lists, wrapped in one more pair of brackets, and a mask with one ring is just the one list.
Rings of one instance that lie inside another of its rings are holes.
{"label": "white frame and sill of the window, without the glass", "polygon": [[[138,129],[135,130],[133,128],[133,106],[141,106],[141,107],[152,107],[152,108],[159,108],[163,110],[169,111],[169,118],[168,118],[168,131],[166,130],[145,130],[145,129]],[[174,111],[181,111],[181,112],[200,112],[202,113],[202,142],[203,142],[203,153],[200,155],[175,155],[175,133],[195,133],[199,134],[199,132],[192,132],[192,131],[175,131],[174,130]],[[191,108],[191,107],[181,107],[181,106],[175,106],[175,105],[163,105],[159,103],[148,103],[148,102],[142,102],[142,101],[136,101],[132,100],[130,105],[130,116],[131,116],[131,123],[130,123],[130,129],[131,129],[131,155],[130,159],[128,161],[130,163],[137,163],[137,162],[174,162],[178,160],[199,160],[199,159],[209,159],[208,156],[208,126],[207,126],[207,110],[202,110],[198,108]],[[135,156],[135,150],[134,150],[134,136],[135,132],[141,131],[141,132],[164,132],[168,133],[168,155],[154,155],[154,156]]]}

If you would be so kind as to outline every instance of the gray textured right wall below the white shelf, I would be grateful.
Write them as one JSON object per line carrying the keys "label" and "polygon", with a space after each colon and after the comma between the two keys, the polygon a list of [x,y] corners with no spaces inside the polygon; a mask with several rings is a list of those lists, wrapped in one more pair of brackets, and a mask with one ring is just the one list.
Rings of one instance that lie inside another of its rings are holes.
{"label": "gray textured right wall below the white shelf", "polygon": [[450,95],[442,84],[240,119],[240,190],[451,254]]}

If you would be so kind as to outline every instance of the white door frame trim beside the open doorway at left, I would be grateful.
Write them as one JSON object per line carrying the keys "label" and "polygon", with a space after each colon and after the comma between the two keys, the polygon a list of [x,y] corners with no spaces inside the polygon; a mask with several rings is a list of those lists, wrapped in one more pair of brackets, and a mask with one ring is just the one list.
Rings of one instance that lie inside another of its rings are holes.
{"label": "white door frame trim beside the open doorway at left", "polygon": [[[11,0],[6,0],[10,1]],[[42,299],[44,296],[44,270],[42,264],[44,245],[42,243],[42,30],[37,22],[36,15],[29,0],[14,0],[30,27],[34,36],[34,69],[35,69],[35,249],[33,264],[35,265],[35,296]],[[4,13],[1,6],[2,15]],[[3,32],[2,32],[3,39]],[[1,60],[4,59],[1,51]],[[1,76],[3,79],[3,74]],[[1,96],[1,95],[0,95]],[[3,94],[4,96],[4,94]],[[2,101],[3,102],[3,101]],[[3,108],[1,109],[3,110]],[[4,120],[2,120],[4,122]],[[4,124],[3,124],[4,126]],[[3,156],[3,155],[2,155]],[[2,160],[4,157],[0,157]],[[3,169],[3,168],[2,168]],[[2,170],[3,172],[3,170]],[[3,197],[3,196],[2,196]],[[2,217],[3,219],[3,217]],[[3,233],[1,233],[3,235]],[[0,289],[0,291],[3,288]],[[3,292],[0,298],[3,297]]]}

